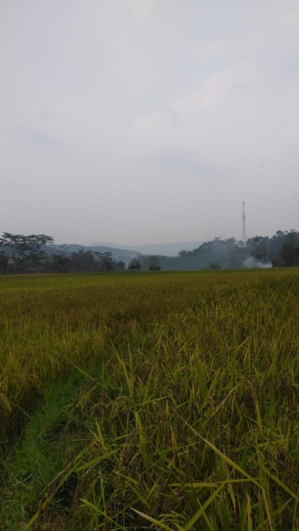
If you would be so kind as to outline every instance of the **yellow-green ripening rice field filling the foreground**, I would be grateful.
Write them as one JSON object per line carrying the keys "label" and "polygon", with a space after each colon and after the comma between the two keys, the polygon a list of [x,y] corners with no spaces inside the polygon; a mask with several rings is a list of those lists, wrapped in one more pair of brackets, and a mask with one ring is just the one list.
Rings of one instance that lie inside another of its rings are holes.
{"label": "yellow-green ripening rice field filling the foreground", "polygon": [[299,529],[294,269],[0,277],[0,529]]}

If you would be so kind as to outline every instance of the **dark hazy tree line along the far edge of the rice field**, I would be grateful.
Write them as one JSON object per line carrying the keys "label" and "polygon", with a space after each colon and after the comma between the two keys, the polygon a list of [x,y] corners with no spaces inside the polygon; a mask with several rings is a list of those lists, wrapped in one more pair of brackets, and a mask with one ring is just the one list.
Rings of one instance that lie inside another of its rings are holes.
{"label": "dark hazy tree line along the far edge of the rice field", "polygon": [[214,238],[193,251],[177,256],[144,255],[129,264],[113,259],[112,252],[80,249],[68,252],[67,245],[54,246],[45,234],[3,233],[0,237],[0,273],[88,272],[88,271],[239,269],[246,267],[292,267],[299,265],[299,233],[278,230],[271,238],[255,236],[244,244],[235,238]]}

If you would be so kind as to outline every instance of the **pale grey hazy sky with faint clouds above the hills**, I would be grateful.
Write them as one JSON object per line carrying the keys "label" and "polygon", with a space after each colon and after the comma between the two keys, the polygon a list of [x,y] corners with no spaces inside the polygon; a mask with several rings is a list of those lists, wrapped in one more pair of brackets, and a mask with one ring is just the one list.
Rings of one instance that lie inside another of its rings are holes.
{"label": "pale grey hazy sky with faint clouds above the hills", "polygon": [[0,232],[299,229],[298,0],[0,0],[0,76]]}

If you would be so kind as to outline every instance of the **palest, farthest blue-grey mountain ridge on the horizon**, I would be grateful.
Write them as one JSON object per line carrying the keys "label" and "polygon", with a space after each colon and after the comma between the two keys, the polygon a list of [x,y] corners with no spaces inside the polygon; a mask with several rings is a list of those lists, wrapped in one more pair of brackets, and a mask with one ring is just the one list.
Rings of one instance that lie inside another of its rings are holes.
{"label": "palest, farthest blue-grey mountain ridge on the horizon", "polygon": [[129,249],[136,251],[141,254],[163,254],[164,256],[175,256],[178,252],[184,251],[193,251],[197,249],[203,242],[175,242],[175,243],[153,243],[147,245],[132,245],[128,247],[127,245],[118,245],[116,243],[97,243],[93,242],[90,244],[90,247],[102,245],[109,246],[112,248],[121,247],[121,249]]}

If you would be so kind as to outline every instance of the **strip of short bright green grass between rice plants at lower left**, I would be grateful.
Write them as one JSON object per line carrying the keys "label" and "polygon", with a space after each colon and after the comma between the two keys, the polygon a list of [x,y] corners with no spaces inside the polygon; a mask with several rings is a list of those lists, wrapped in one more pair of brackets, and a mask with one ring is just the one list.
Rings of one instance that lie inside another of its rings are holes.
{"label": "strip of short bright green grass between rice plants at lower left", "polygon": [[[45,486],[64,467],[70,443],[78,435],[66,429],[70,421],[68,406],[81,380],[76,372],[59,386],[45,390],[35,414],[25,423],[20,443],[4,460],[3,521],[10,531],[18,531],[28,514],[38,510]],[[58,492],[52,513],[63,512],[63,504],[64,512],[68,512],[67,496],[70,493],[66,488]]]}

